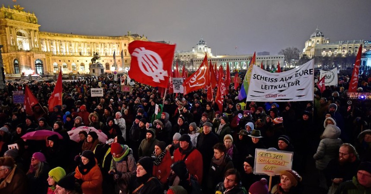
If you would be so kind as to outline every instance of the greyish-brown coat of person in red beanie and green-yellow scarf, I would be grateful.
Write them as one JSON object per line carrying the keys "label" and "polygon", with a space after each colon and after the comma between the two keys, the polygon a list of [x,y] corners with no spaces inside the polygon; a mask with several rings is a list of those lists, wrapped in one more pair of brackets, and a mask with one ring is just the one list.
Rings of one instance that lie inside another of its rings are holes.
{"label": "greyish-brown coat of person in red beanie and green-yellow scarf", "polygon": [[122,173],[116,183],[119,189],[124,193],[128,191],[130,177],[135,175],[137,170],[137,162],[135,162],[132,152],[133,151],[129,149],[128,155],[121,162],[116,162],[113,158],[111,162],[111,169],[116,169],[116,172]]}

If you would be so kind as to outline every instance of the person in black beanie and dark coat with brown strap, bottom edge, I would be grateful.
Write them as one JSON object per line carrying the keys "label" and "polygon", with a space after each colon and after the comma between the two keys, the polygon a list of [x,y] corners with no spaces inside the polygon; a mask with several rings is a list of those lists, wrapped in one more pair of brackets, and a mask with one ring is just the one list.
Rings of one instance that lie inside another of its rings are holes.
{"label": "person in black beanie and dark coat with brown strap, bottom edge", "polygon": [[153,160],[151,157],[143,157],[138,160],[137,174],[130,178],[128,187],[130,193],[162,193],[161,183],[152,177]]}

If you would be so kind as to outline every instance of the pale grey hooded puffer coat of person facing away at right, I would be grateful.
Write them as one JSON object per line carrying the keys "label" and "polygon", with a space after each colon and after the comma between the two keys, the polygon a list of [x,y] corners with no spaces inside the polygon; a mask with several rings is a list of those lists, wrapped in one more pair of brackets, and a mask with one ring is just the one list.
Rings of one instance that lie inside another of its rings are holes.
{"label": "pale grey hooded puffer coat of person facing away at right", "polygon": [[317,152],[313,155],[318,170],[324,170],[332,159],[338,157],[339,148],[342,144],[339,138],[340,133],[340,129],[337,126],[331,124],[326,126]]}

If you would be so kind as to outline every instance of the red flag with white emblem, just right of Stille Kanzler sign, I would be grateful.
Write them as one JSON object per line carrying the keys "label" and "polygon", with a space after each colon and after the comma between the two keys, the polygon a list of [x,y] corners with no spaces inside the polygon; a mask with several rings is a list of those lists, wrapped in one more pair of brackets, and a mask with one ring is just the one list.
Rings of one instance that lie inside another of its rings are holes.
{"label": "red flag with white emblem, just right of Stille Kanzler sign", "polygon": [[192,91],[196,91],[198,89],[204,88],[208,83],[208,69],[207,69],[207,55],[203,62],[201,63],[200,67],[194,72],[191,76],[189,76],[186,80],[184,80],[184,95],[190,93]]}

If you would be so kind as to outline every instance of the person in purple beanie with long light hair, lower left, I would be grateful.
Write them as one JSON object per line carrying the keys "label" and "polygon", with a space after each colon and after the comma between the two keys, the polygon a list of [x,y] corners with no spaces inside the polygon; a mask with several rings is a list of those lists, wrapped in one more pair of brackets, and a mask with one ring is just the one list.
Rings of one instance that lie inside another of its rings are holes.
{"label": "person in purple beanie with long light hair, lower left", "polygon": [[31,158],[30,168],[27,171],[30,191],[32,193],[45,193],[47,191],[47,178],[50,171],[44,154],[35,152]]}

